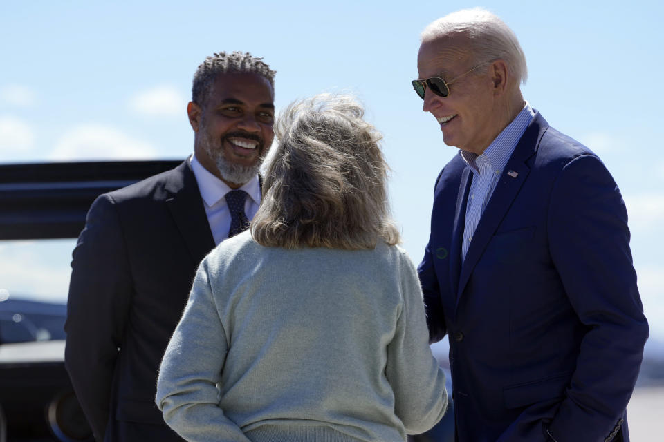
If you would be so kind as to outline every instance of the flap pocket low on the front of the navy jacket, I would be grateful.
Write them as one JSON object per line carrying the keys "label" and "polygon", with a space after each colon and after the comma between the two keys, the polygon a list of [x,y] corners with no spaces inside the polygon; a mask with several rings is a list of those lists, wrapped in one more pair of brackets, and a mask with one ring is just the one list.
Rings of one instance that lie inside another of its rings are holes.
{"label": "flap pocket low on the front of the navy jacket", "polygon": [[519,408],[533,403],[564,398],[572,372],[556,374],[537,381],[510,385],[503,389],[507,408]]}

